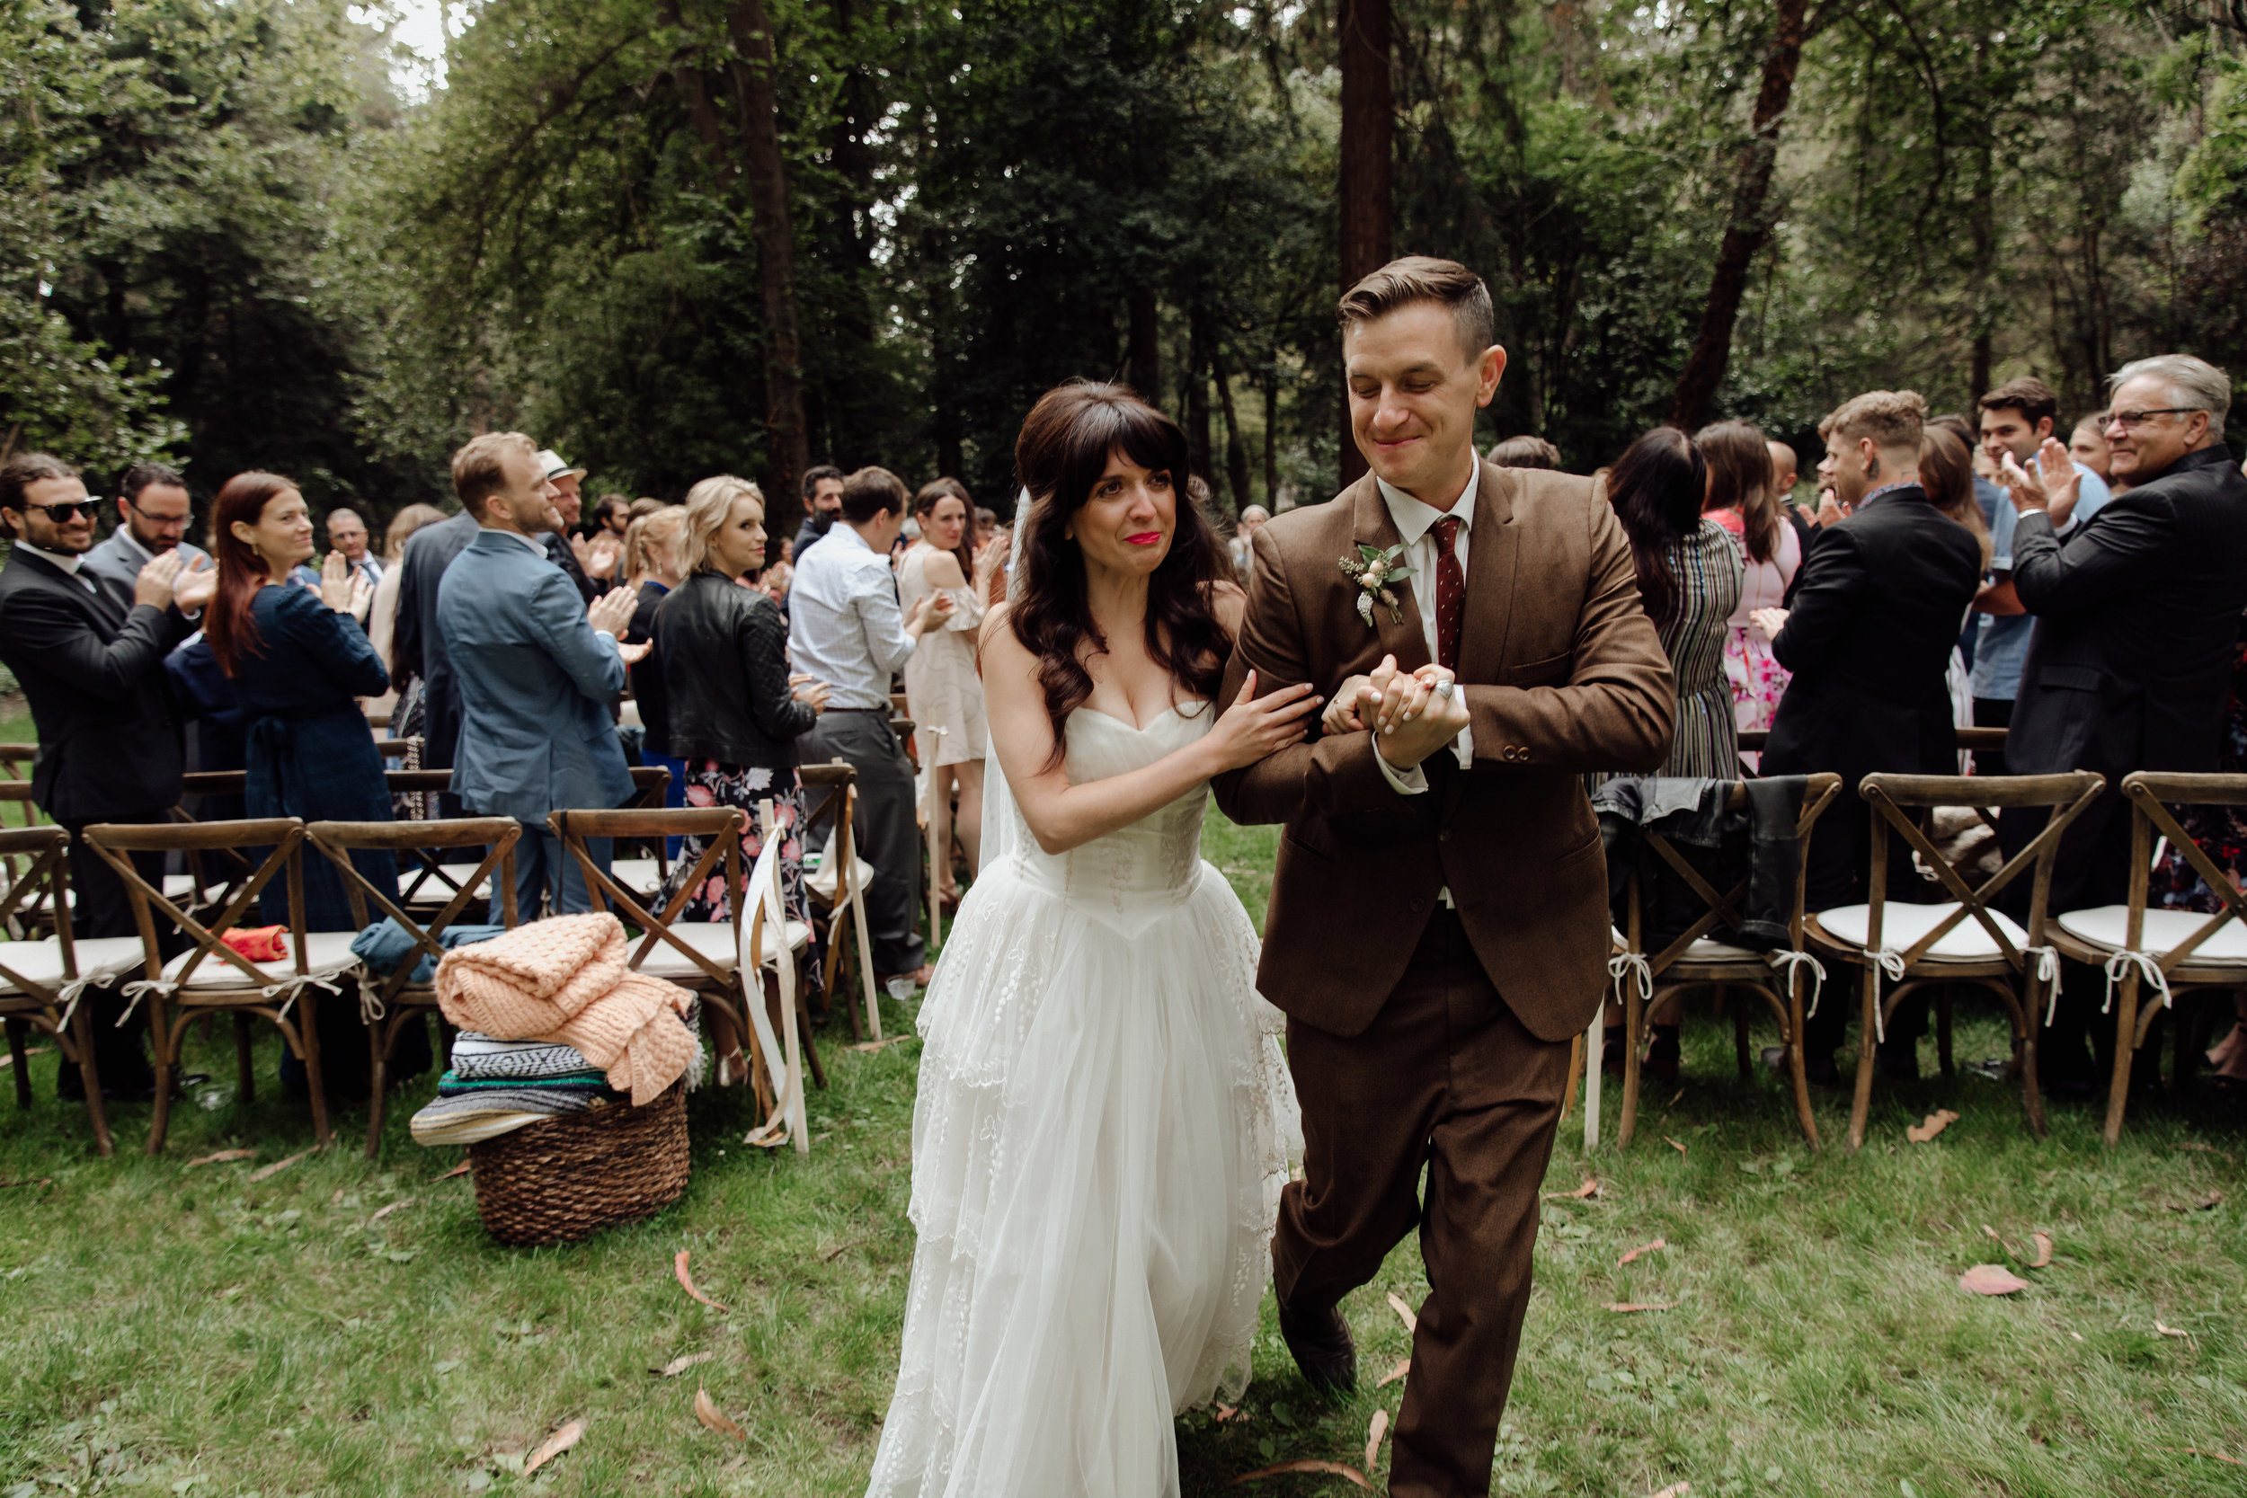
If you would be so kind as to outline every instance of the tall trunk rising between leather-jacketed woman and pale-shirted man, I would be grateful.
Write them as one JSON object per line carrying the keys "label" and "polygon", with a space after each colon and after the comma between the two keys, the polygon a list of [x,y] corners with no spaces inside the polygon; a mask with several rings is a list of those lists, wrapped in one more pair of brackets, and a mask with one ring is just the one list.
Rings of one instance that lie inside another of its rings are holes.
{"label": "tall trunk rising between leather-jacketed woman and pale-shirted man", "polygon": [[773,92],[773,22],[764,0],[733,0],[733,94],[742,162],[755,213],[757,290],[764,303],[766,526],[789,535],[802,514],[798,481],[811,467],[804,433],[804,357],[795,330],[795,231],[789,225],[789,173],[780,157],[780,101]]}

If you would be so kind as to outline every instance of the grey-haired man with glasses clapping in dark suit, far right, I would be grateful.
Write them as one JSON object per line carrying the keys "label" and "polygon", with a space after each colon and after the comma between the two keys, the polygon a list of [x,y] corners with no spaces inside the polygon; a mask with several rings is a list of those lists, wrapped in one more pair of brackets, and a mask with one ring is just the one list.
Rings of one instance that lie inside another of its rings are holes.
{"label": "grey-haired man with glasses clapping in dark suit, far right", "polygon": [[[2081,490],[2067,449],[2047,438],[2034,472],[2004,460],[2020,512],[2013,588],[2036,618],[2004,759],[2016,775],[2096,770],[2108,782],[2060,842],[2052,910],[2128,898],[2123,775],[2216,770],[2247,611],[2247,476],[2225,447],[2231,377],[2191,355],[2155,355],[2126,364],[2110,389],[2105,438],[2128,487],[2065,541],[2058,530]],[[2007,851],[2025,847],[2040,820],[2004,813]],[[2025,896],[2027,883],[2013,887]],[[2067,963],[2040,1062],[2060,1096],[2087,1094],[2099,1076],[2085,1031],[2101,1049],[2112,1044],[2090,1024],[2101,993],[2099,972]]]}

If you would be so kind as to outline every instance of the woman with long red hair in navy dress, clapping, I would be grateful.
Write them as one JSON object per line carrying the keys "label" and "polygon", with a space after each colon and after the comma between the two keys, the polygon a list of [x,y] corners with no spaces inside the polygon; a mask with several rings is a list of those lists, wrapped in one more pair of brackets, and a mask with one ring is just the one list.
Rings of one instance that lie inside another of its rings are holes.
{"label": "woman with long red hair in navy dress, clapping", "polygon": [[[297,485],[279,474],[227,481],[211,501],[211,550],[218,595],[202,629],[243,703],[245,811],[306,822],[389,822],[382,757],[357,698],[382,696],[391,681],[351,613],[351,564],[333,552],[319,588],[290,582],[290,568],[315,550],[312,512]],[[398,865],[389,853],[355,853],[353,867],[395,898]],[[267,883],[258,903],[267,923],[288,921],[285,880]],[[310,932],[353,930],[344,878],[326,858],[303,860],[303,907]],[[321,1069],[328,1089],[364,1096],[369,1053],[357,1006],[319,1006],[319,1049],[333,1058]],[[290,1060],[283,1058],[285,1083],[294,1080]],[[420,1067],[429,1060],[420,1029],[400,1038],[393,1076],[418,1071],[416,1060]]]}

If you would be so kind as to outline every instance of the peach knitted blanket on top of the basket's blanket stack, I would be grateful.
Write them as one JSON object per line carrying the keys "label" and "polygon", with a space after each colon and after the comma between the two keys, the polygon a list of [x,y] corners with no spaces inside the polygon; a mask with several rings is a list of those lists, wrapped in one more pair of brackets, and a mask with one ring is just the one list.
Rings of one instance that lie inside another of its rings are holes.
{"label": "peach knitted blanket on top of the basket's blanket stack", "polygon": [[454,948],[436,966],[436,1002],[467,1031],[577,1047],[636,1105],[654,1103],[694,1060],[694,1033],[679,1017],[694,995],[627,970],[625,925],[607,912],[548,916]]}

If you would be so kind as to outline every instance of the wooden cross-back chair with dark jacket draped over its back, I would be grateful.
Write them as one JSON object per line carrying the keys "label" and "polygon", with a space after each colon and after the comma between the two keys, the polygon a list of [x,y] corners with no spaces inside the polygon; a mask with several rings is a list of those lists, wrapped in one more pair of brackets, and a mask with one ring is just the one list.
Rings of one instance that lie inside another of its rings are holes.
{"label": "wooden cross-back chair with dark jacket draped over its back", "polygon": [[[1809,840],[1811,826],[1834,804],[1840,795],[1840,775],[1809,775],[1802,788],[1802,815],[1795,822],[1795,838]],[[1726,811],[1739,813],[1748,809],[1748,786],[1735,782],[1726,793]],[[1780,1022],[1780,1044],[1789,1053],[1789,1080],[1795,1094],[1795,1123],[1802,1125],[1802,1136],[1809,1145],[1818,1148],[1818,1123],[1811,1116],[1811,1089],[1809,1078],[1802,1071],[1802,968],[1816,968],[1816,959],[1798,959],[1802,952],[1802,887],[1807,878],[1807,862],[1795,871],[1795,887],[1789,907],[1789,954],[1766,954],[1755,948],[1737,946],[1728,937],[1739,934],[1746,916],[1741,907],[1748,896],[1750,874],[1744,874],[1739,883],[1730,889],[1717,889],[1703,878],[1692,862],[1679,853],[1676,844],[1663,833],[1645,831],[1645,844],[1663,860],[1670,874],[1692,894],[1699,905],[1696,919],[1663,950],[1647,952],[1645,946],[1645,903],[1647,892],[1640,887],[1638,867],[1634,862],[1629,871],[1629,896],[1625,907],[1625,928],[1616,932],[1620,941],[1616,943],[1616,961],[1611,972],[1616,977],[1616,988],[1622,995],[1622,1118],[1616,1125],[1616,1145],[1629,1145],[1631,1134],[1638,1125],[1638,1080],[1645,1056],[1647,1040],[1647,1015],[1665,997],[1674,993],[1685,993],[1687,988],[1714,988],[1717,993],[1728,993],[1732,988],[1748,988],[1759,995],[1768,1006],[1773,1017]],[[1822,984],[1822,970],[1816,979]],[[1732,1011],[1732,1040],[1739,1053],[1739,1074],[1750,1076],[1748,1065],[1748,1006],[1739,1004]],[[1595,1056],[1591,1047],[1602,1044],[1600,1035],[1602,1020],[1593,1020],[1593,1031],[1584,1040],[1589,1056]],[[1586,1067],[1591,1062],[1586,1060]],[[1586,1091],[1584,1100],[1584,1143],[1591,1145],[1600,1136],[1600,1114],[1595,1085]]]}

